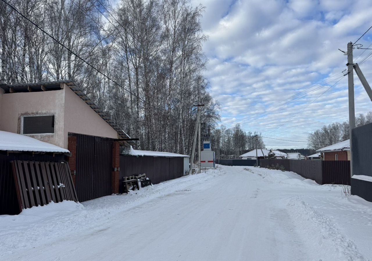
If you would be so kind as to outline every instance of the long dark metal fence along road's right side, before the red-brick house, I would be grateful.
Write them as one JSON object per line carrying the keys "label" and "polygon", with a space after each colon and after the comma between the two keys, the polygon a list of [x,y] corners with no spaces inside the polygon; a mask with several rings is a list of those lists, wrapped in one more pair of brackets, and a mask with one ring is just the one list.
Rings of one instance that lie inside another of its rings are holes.
{"label": "long dark metal fence along road's right side, before the red-brick house", "polygon": [[292,171],[305,179],[315,180],[320,185],[341,184],[350,185],[350,161],[328,160],[278,160],[262,159],[261,167],[283,166],[285,170]]}

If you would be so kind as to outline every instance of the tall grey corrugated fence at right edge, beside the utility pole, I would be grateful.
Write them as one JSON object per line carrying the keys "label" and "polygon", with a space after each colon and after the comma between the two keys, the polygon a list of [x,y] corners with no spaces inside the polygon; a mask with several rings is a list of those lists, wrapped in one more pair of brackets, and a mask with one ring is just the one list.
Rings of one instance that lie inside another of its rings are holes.
{"label": "tall grey corrugated fence at right edge, beside the utility pole", "polygon": [[354,175],[372,176],[372,123],[353,128]]}

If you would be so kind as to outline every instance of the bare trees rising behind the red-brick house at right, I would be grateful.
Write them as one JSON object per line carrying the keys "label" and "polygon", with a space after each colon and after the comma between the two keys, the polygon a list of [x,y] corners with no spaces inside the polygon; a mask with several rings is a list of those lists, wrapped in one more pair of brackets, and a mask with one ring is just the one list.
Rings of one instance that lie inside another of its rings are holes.
{"label": "bare trees rising behind the red-brick house at right", "polygon": [[[366,115],[359,114],[355,117],[356,125],[367,123],[372,123],[372,111],[369,111]],[[344,121],[343,123],[336,122],[324,125],[321,129],[310,133],[308,136],[308,148],[317,150],[348,139],[349,121]]]}

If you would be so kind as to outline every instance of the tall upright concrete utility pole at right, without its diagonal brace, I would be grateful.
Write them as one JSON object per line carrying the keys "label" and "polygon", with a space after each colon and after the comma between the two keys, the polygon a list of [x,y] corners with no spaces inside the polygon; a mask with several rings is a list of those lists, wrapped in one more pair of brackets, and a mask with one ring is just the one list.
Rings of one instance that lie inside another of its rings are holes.
{"label": "tall upright concrete utility pole at right, without its diagonal brace", "polygon": [[350,176],[353,176],[353,139],[352,130],[355,128],[354,107],[354,71],[353,71],[353,43],[347,43],[347,80],[349,86],[349,137],[350,137]]}

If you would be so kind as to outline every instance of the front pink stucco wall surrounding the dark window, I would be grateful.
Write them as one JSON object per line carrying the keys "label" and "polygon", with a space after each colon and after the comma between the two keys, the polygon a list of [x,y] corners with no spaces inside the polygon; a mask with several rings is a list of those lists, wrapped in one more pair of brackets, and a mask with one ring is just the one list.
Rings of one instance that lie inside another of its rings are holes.
{"label": "front pink stucco wall surrounding the dark window", "polygon": [[63,147],[64,90],[3,94],[0,130],[20,133],[20,117],[30,114],[54,114],[54,134],[27,135]]}

